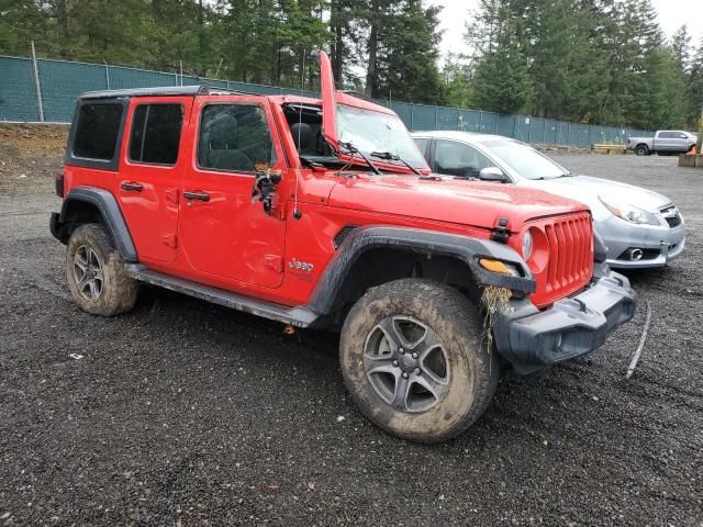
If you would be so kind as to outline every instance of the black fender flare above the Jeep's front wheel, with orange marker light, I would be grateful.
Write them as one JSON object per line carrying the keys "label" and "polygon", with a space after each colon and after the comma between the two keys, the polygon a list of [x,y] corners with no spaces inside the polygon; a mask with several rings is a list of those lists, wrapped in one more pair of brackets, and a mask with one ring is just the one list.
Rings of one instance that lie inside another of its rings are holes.
{"label": "black fender flare above the Jeep's front wheel, with orange marker light", "polygon": [[[504,244],[412,227],[362,226],[346,236],[322,272],[310,296],[309,307],[321,315],[330,314],[338,291],[359,257],[381,247],[457,258],[467,264],[480,285],[506,288],[523,295],[533,293],[537,288],[523,258]],[[510,277],[488,271],[479,265],[480,258],[511,264],[520,269],[522,276]]]}

